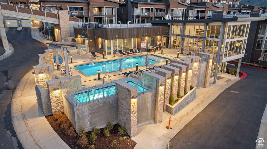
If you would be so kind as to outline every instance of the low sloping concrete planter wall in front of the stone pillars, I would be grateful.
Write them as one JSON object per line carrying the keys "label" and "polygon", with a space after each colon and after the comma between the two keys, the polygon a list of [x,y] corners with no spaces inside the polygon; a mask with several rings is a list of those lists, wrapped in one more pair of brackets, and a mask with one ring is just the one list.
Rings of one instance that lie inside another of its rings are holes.
{"label": "low sloping concrete planter wall in front of the stone pillars", "polygon": [[175,115],[180,109],[185,107],[191,101],[196,98],[196,87],[194,87],[191,91],[189,91],[182,99],[180,99],[177,103],[173,106],[167,104],[166,111],[169,112],[171,115]]}

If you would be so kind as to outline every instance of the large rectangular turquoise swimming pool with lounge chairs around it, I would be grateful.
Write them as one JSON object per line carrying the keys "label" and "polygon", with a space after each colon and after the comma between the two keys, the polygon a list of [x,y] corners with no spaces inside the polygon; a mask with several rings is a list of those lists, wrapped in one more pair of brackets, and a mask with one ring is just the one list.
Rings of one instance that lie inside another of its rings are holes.
{"label": "large rectangular turquoise swimming pool with lounge chairs around it", "polygon": [[[166,59],[155,56],[155,55],[149,55],[149,64],[155,64],[159,62],[164,62]],[[131,57],[131,58],[124,58],[122,60],[122,69],[127,68],[133,68],[136,67],[136,63],[138,63],[138,66],[144,66],[146,61],[146,56],[139,56],[139,57]],[[120,59],[117,60],[111,60],[111,61],[105,61],[105,62],[98,62],[98,63],[91,63],[91,64],[84,64],[84,65],[76,65],[76,67],[79,71],[83,72],[87,76],[96,75],[97,70],[100,70],[100,73],[102,72],[102,68],[106,69],[108,67],[108,71],[117,71],[120,67]]]}

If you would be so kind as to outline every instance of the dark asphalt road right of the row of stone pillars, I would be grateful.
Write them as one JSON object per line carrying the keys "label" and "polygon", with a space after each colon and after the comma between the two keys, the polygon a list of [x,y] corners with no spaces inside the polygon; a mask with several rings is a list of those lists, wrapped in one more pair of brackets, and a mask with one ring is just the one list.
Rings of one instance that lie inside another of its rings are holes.
{"label": "dark asphalt road right of the row of stone pillars", "polygon": [[248,76],[218,95],[171,139],[169,148],[255,148],[267,103],[267,70],[241,65],[241,71]]}

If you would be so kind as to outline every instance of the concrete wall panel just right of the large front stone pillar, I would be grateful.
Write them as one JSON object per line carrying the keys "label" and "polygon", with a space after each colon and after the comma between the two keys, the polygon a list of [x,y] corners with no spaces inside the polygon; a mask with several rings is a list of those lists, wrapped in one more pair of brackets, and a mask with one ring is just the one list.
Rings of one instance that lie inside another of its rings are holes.
{"label": "concrete wall panel just right of the large front stone pillar", "polygon": [[138,95],[137,126],[155,122],[156,90]]}

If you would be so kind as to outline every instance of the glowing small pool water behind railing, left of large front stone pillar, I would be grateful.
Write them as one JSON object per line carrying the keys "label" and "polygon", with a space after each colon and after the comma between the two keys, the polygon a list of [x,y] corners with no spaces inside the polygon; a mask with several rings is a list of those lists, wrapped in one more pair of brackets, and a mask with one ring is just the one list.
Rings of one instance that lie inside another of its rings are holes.
{"label": "glowing small pool water behind railing, left of large front stone pillar", "polygon": [[104,88],[100,87],[97,89],[89,90],[89,94],[88,91],[75,93],[73,94],[73,97],[74,99],[77,100],[78,103],[83,103],[83,102],[88,102],[89,100],[92,101],[95,99],[104,98],[114,94],[116,94],[115,84],[105,86]]}

